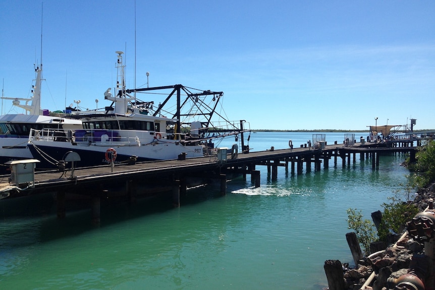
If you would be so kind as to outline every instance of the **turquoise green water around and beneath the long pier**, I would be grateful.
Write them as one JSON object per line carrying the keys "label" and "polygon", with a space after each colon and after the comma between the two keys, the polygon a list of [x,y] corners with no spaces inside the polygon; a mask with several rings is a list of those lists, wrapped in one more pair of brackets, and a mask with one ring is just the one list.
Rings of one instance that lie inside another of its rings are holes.
{"label": "turquoise green water around and beneath the long pier", "polygon": [[[257,133],[251,143],[278,148],[267,143],[274,138],[288,144],[285,133]],[[99,227],[87,210],[64,220],[4,216],[0,289],[322,289],[325,260],[352,263],[346,209],[365,218],[381,209],[406,182],[403,159],[381,156],[375,171],[369,160],[350,168],[339,160],[299,176],[280,167],[277,181],[257,166],[260,188],[236,179],[224,197],[219,186],[189,190],[176,209],[114,205]]]}

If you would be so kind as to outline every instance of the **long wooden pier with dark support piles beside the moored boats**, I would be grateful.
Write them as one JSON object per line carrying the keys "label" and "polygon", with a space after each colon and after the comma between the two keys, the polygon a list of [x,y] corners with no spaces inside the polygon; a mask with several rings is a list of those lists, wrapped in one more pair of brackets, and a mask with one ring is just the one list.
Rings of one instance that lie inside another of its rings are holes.
{"label": "long wooden pier with dark support piles beside the moored boats", "polygon": [[[411,143],[412,144],[412,143]],[[373,147],[345,146],[344,144],[326,145],[323,149],[310,147],[249,152],[247,154],[229,152],[224,160],[217,156],[188,158],[184,160],[163,160],[137,162],[130,165],[105,165],[74,170],[50,170],[35,172],[34,183],[28,188],[9,191],[3,198],[15,198],[51,192],[56,195],[58,217],[65,217],[67,196],[80,195],[91,201],[93,221],[99,222],[100,203],[102,199],[122,199],[132,201],[139,197],[156,196],[168,192],[172,195],[174,206],[180,205],[180,196],[187,188],[211,182],[220,184],[220,192],[226,194],[227,179],[236,175],[251,176],[251,182],[260,186],[260,171],[256,166],[267,166],[271,179],[278,177],[278,168],[285,167],[292,173],[320,170],[334,162],[338,166],[350,166],[355,163],[357,154],[360,160],[371,158],[372,168],[379,165],[379,155],[391,152],[408,152],[415,158],[417,147],[394,146]],[[183,159],[183,158],[181,158]],[[73,174],[72,174],[73,173]],[[23,188],[23,185],[20,185]]]}

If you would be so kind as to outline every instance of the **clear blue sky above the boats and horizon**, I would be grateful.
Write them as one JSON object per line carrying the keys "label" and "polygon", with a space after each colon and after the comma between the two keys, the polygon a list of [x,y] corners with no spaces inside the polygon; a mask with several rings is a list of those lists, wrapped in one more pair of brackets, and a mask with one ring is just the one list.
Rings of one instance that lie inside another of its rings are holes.
{"label": "clear blue sky above the boats and horizon", "polygon": [[[42,108],[134,85],[134,0],[43,1]],[[42,2],[0,3],[4,95],[29,97]],[[435,129],[435,1],[136,1],[136,84],[224,91],[251,129]],[[2,112],[11,111],[3,101]],[[409,122],[409,121],[408,121]]]}

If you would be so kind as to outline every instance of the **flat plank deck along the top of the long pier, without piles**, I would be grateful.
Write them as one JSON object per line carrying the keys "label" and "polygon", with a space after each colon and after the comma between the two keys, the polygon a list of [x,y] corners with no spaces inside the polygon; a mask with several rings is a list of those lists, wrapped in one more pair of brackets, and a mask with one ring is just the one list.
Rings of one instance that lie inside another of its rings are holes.
{"label": "flat plank deck along the top of the long pier, without piles", "polygon": [[[75,168],[74,176],[71,177],[71,169],[65,172],[58,170],[48,170],[35,172],[34,188],[30,191],[37,193],[46,191],[50,188],[62,188],[69,186],[80,186],[88,183],[110,182],[119,179],[149,178],[159,176],[160,178],[168,175],[193,175],[198,172],[215,171],[228,172],[230,170],[255,170],[255,165],[286,166],[286,163],[318,163],[323,162],[324,167],[329,166],[328,160],[337,157],[349,159],[352,154],[360,153],[364,155],[383,153],[383,152],[414,152],[416,147],[363,147],[363,146],[344,146],[343,144],[327,145],[323,150],[313,148],[293,148],[249,152],[248,154],[239,153],[236,159],[228,154],[227,160],[219,162],[216,156],[196,157],[185,160],[161,160],[137,162],[133,165],[110,165]],[[362,155],[363,156],[363,155]],[[355,158],[354,158],[355,159]],[[362,157],[364,159],[364,157]],[[315,168],[319,169],[319,168]],[[246,171],[247,170],[247,171]],[[299,172],[300,173],[300,172]]]}

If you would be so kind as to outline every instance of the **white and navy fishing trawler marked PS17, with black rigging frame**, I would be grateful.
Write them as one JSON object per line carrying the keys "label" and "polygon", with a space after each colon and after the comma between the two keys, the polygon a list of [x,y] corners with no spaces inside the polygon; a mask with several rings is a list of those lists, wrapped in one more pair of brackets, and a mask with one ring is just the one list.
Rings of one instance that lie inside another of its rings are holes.
{"label": "white and navy fishing trawler marked PS17, with black rigging frame", "polygon": [[[227,137],[235,138],[242,143],[242,150],[249,151],[243,135],[250,132],[249,123],[230,122],[216,112],[223,92],[193,93],[183,85],[126,89],[123,52],[116,53],[116,95],[111,88],[104,92],[104,99],[112,102],[110,106],[101,111],[67,108],[66,118],[82,122],[79,130],[31,130],[27,146],[33,158],[41,161],[40,167],[65,163],[62,161],[69,152],[78,154],[77,167],[202,157],[215,153],[215,145]],[[169,95],[158,105],[136,97],[139,93],[159,97],[161,91],[169,91]]]}

